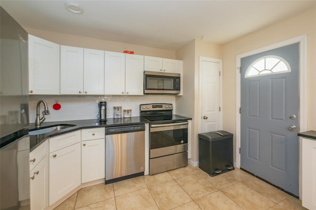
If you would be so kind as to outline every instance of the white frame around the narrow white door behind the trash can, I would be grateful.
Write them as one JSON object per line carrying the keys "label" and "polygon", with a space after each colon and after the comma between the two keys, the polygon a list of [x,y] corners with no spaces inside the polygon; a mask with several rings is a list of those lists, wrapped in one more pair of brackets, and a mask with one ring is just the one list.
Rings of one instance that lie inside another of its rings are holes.
{"label": "white frame around the narrow white door behind the trash can", "polygon": [[214,62],[219,64],[219,106],[221,107],[220,111],[220,123],[219,127],[220,130],[223,129],[223,60],[216,59],[216,58],[208,58],[199,56],[199,126],[198,126],[198,133],[202,132],[202,61]]}

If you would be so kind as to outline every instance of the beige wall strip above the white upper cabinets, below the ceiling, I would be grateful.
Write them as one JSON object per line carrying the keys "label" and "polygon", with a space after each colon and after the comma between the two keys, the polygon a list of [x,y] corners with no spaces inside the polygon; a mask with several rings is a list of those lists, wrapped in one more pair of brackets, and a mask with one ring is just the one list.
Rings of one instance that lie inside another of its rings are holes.
{"label": "beige wall strip above the white upper cabinets, below the ceiling", "polygon": [[25,28],[25,30],[31,35],[35,35],[61,45],[106,50],[112,52],[123,52],[124,50],[129,50],[134,51],[134,54],[137,55],[175,59],[175,51],[172,50],[158,49],[116,41],[108,41],[104,39],[96,39],[85,36],[61,34],[57,32],[42,31],[31,28]]}

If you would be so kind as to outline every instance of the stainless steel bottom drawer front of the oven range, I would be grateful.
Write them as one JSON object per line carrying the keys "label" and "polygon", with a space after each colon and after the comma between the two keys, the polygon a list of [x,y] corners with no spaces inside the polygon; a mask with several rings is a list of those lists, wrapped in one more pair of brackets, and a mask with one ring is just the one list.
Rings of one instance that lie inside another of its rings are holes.
{"label": "stainless steel bottom drawer front of the oven range", "polygon": [[188,165],[188,152],[150,159],[149,174],[154,175],[161,172],[185,167]]}

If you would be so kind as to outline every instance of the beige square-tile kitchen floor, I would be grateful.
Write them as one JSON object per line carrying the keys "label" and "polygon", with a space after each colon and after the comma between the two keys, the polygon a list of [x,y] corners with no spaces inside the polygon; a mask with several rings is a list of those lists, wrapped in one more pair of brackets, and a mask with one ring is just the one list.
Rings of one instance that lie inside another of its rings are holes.
{"label": "beige square-tile kitchen floor", "polygon": [[214,177],[191,165],[80,189],[55,210],[306,210],[300,200],[235,169]]}

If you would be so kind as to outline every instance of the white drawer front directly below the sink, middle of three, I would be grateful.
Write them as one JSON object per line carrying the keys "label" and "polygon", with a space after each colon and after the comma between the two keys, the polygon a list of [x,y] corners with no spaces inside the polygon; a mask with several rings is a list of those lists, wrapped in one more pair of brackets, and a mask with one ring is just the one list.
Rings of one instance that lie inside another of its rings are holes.
{"label": "white drawer front directly below the sink, middle of three", "polygon": [[80,135],[80,131],[76,131],[49,139],[49,152],[80,142]]}

